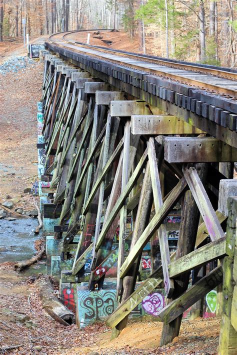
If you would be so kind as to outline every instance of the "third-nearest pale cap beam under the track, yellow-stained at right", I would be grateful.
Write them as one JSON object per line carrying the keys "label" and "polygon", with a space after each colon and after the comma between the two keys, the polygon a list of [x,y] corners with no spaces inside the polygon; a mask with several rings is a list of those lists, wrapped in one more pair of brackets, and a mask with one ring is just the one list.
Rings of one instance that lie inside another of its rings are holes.
{"label": "third-nearest pale cap beam under the track, yellow-stained at right", "polygon": [[151,114],[147,102],[141,100],[110,101],[111,116],[131,116],[132,114]]}

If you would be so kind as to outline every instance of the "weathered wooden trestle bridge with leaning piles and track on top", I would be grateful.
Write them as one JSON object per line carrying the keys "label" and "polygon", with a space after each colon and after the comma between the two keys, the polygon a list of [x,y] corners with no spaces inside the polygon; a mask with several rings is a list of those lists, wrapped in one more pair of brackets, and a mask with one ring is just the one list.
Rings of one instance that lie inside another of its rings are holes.
{"label": "weathered wooden trestle bridge with leaning piles and track on top", "polygon": [[[218,351],[236,354],[237,70],[88,45],[71,33],[50,36],[41,51],[43,216],[54,220],[54,255],[72,259],[61,282],[85,281],[91,255],[87,289],[99,291],[117,263],[117,307],[106,318],[113,336],[163,288],[161,345],[178,335],[187,308],[200,315],[199,300],[223,284]],[[180,217],[171,247],[170,215]]]}

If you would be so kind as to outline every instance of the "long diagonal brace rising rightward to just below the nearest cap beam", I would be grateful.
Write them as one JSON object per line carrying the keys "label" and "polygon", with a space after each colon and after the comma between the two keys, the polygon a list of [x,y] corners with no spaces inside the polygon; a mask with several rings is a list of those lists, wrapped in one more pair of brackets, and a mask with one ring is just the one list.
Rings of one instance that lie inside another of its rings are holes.
{"label": "long diagonal brace rising rightward to just below the nearest cap beam", "polygon": [[159,209],[157,213],[155,213],[154,217],[151,219],[140,238],[137,240],[132,250],[130,250],[126,260],[121,266],[120,277],[124,277],[132,262],[135,260],[139,252],[143,249],[145,244],[149,241],[155,230],[160,226],[163,222],[164,218],[168,215],[169,211],[178,201],[182,193],[186,188],[186,180],[185,178],[181,178],[177,185],[172,189],[172,191],[168,194],[168,197],[165,199],[162,207]]}

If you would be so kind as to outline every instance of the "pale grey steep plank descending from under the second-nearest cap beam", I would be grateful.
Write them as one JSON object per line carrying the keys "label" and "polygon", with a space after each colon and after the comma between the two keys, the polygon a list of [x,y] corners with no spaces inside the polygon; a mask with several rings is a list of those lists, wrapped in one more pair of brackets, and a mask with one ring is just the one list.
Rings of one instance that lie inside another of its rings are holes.
{"label": "pale grey steep plank descending from under the second-nearest cap beam", "polygon": [[[159,172],[157,167],[153,138],[149,138],[147,151],[148,151],[154,206],[155,206],[155,212],[157,213],[159,209],[162,207],[163,201],[162,201]],[[165,289],[166,296],[169,298],[173,293],[174,284],[173,284],[173,280],[170,279],[168,274],[168,264],[170,263],[170,257],[169,257],[168,239],[166,236],[166,227],[164,223],[161,223],[157,233],[159,238],[159,248],[160,248],[161,263],[163,269],[164,289]]]}

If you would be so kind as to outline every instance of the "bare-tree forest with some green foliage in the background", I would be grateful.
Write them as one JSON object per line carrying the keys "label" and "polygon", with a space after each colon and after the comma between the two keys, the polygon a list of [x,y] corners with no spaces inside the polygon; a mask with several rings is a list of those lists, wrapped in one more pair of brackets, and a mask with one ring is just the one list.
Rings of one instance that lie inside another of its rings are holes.
{"label": "bare-tree forest with some green foliage in the background", "polygon": [[111,28],[149,54],[236,66],[235,0],[0,0],[0,41]]}

